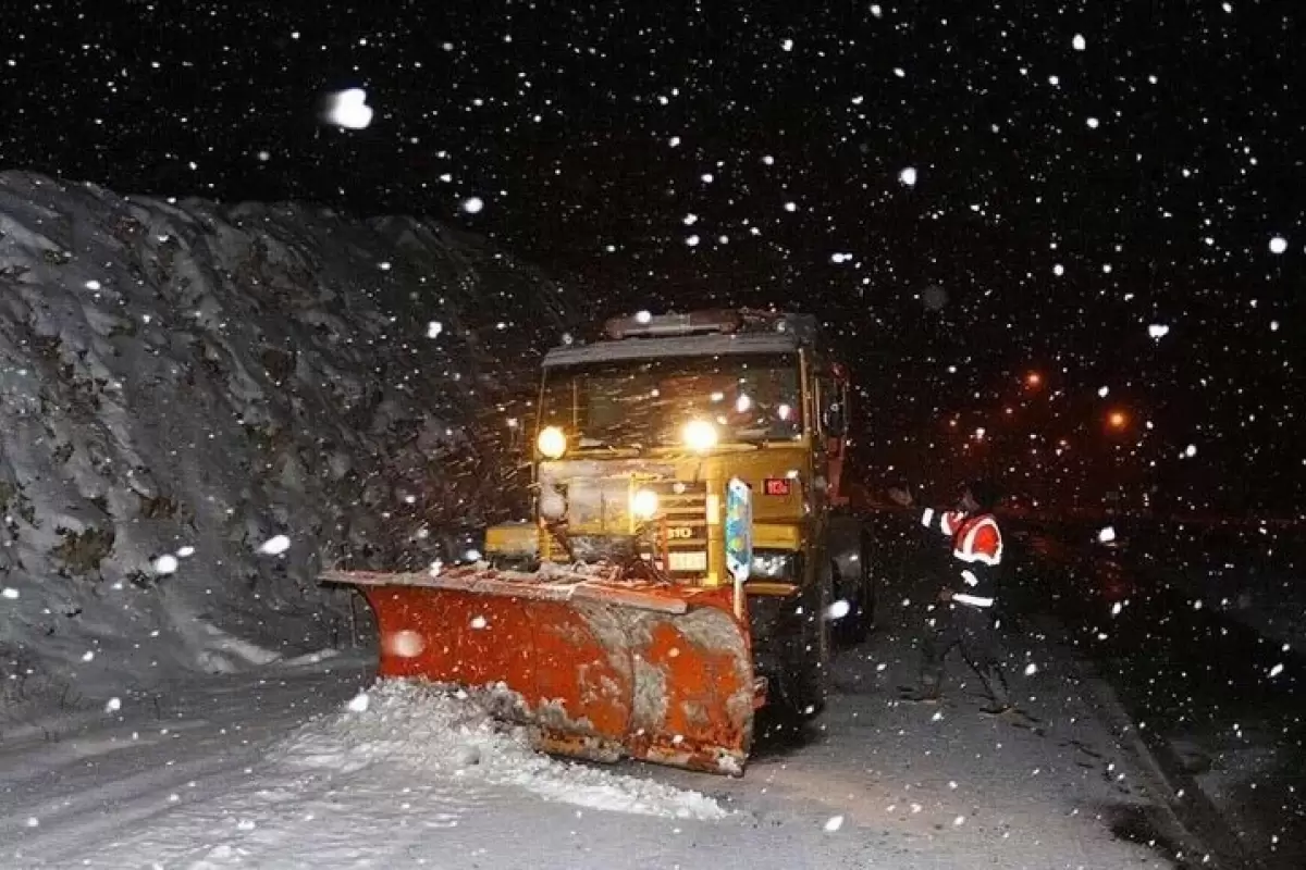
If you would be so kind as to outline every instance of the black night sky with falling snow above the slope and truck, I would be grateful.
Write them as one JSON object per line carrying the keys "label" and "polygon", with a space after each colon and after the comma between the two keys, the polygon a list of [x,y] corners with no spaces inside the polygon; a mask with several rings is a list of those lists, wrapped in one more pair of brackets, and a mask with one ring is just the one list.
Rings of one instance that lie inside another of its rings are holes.
{"label": "black night sky with falling snow above the slope and truck", "polygon": [[1298,5],[5,3],[0,167],[421,214],[613,309],[797,299],[876,473],[983,425],[1013,480],[1033,433],[1299,513]]}

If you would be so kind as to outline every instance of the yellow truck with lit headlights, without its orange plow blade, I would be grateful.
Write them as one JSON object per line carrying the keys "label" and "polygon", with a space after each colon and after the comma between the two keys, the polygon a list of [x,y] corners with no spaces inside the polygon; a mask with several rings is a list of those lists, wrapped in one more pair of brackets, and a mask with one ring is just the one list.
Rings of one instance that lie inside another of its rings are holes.
{"label": "yellow truck with lit headlights, without its orange plow blade", "polygon": [[825,698],[832,629],[871,618],[842,515],[849,383],[806,314],[708,310],[607,321],[543,360],[533,519],[488,530],[491,562],[646,560],[673,583],[733,582],[724,503],[751,490],[743,591],[755,669],[793,712]]}

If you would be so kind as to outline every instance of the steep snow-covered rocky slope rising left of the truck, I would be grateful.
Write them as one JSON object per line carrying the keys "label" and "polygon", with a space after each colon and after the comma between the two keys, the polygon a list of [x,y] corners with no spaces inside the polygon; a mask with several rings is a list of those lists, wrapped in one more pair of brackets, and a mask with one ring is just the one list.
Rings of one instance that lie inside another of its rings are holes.
{"label": "steep snow-covered rocky slope rising left of the truck", "polygon": [[432,223],[0,173],[0,707],[338,643],[320,566],[505,507],[568,310]]}

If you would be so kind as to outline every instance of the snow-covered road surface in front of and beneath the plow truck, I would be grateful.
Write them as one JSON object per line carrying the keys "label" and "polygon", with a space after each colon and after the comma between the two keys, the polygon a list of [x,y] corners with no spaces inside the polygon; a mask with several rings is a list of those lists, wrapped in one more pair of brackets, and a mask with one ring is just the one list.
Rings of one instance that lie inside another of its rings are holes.
{"label": "snow-covered road surface in front of and beneath the plow truck", "polygon": [[1152,803],[1064,663],[1036,639],[1012,650],[1033,727],[981,717],[961,690],[938,711],[901,704],[921,610],[883,612],[878,635],[841,656],[811,740],[763,741],[739,780],[546,759],[466,702],[359,697],[370,677],[353,656],[10,729],[0,865],[1173,866],[1113,833]]}

